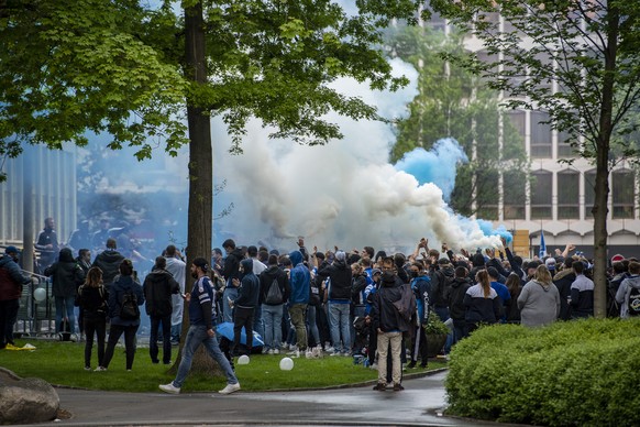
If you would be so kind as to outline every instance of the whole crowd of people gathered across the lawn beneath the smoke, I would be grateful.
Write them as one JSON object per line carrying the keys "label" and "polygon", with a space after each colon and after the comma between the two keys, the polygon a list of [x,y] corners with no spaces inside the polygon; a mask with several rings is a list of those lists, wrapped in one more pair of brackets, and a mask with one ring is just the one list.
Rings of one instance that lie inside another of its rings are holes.
{"label": "whole crowd of people gathered across the lawn beneath the smoke", "polygon": [[[38,237],[43,250],[57,245],[53,229],[48,218]],[[187,264],[175,245],[155,259],[141,281],[131,259],[119,251],[118,240],[106,231],[108,223],[91,238],[106,238],[95,259],[86,248],[74,258],[68,245],[44,269],[52,281],[56,332],[75,332],[75,307],[79,307],[77,329],[86,337],[85,369],[93,370],[96,342],[95,371],[106,371],[124,336],[125,369],[131,370],[142,307],[151,324],[151,361],[169,364],[187,302],[190,325],[178,374],[161,386],[167,393],[179,393],[200,344],[227,375],[221,393],[240,390],[234,358],[256,351],[310,359],[356,355],[377,368],[375,390],[384,391],[389,384],[400,391],[402,364],[427,366],[426,328],[433,316],[449,326],[439,349],[446,358],[452,346],[483,325],[537,327],[594,314],[593,265],[572,244],[552,256],[523,260],[511,253],[506,241],[499,250],[454,253],[445,243],[430,249],[428,240],[421,239],[410,254],[387,254],[372,247],[309,251],[302,238],[295,250],[280,253],[236,245],[228,239],[210,259],[194,259],[188,267],[195,282],[188,283]],[[75,233],[73,238],[74,244],[89,242]],[[18,299],[21,286],[29,283],[16,262],[13,247],[0,259],[1,347],[13,344]],[[636,259],[611,259],[607,294],[609,316],[640,315]],[[232,324],[229,342],[216,332],[223,322]],[[264,344],[254,346],[254,331]]]}

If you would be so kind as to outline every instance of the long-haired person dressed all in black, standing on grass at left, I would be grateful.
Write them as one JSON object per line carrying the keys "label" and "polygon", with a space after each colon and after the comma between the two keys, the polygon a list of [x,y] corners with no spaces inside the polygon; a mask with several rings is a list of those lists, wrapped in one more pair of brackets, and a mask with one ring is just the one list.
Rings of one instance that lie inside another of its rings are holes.
{"label": "long-haired person dressed all in black, standing on grass at left", "polygon": [[84,311],[85,322],[85,371],[91,370],[91,350],[93,348],[93,336],[98,342],[98,368],[96,371],[104,370],[104,338],[107,337],[107,314],[109,306],[107,302],[109,295],[102,284],[102,270],[90,267],[87,272],[85,284],[78,289],[78,305]]}

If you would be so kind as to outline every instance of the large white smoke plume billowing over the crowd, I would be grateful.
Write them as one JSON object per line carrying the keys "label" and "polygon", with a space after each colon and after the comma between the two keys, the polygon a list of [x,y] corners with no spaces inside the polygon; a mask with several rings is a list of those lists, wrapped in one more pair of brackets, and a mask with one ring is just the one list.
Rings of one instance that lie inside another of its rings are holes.
{"label": "large white smoke plume billowing over the crowd", "polygon": [[[335,87],[377,106],[387,118],[401,117],[416,96],[417,73],[400,61],[391,64],[395,74],[411,79],[409,87],[374,92],[351,79]],[[229,154],[224,127],[213,122],[214,176],[217,182],[227,180],[214,211],[234,205],[231,215],[218,220],[214,243],[234,237],[239,244],[260,240],[291,249],[295,239],[304,236],[308,248],[316,244],[319,250],[334,245],[412,249],[422,237],[431,248],[443,242],[468,250],[500,245],[498,236],[487,237],[476,221],[452,214],[437,185],[420,185],[388,162],[395,141],[388,124],[330,120],[340,123],[344,139],[313,147],[269,140],[268,129],[253,122],[242,155]],[[453,168],[441,175],[454,179],[454,164],[440,166]],[[449,184],[452,187],[453,182]]]}

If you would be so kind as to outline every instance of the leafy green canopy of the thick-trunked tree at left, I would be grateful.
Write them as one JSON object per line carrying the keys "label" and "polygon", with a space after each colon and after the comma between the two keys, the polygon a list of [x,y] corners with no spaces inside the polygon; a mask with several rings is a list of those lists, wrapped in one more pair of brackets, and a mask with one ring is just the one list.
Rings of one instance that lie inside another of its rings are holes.
{"label": "leafy green canopy of the thick-trunked tree at left", "polygon": [[[184,1],[188,8],[197,1]],[[380,26],[416,21],[420,1],[203,1],[206,85],[185,66],[184,18],[175,4],[136,0],[8,0],[0,9],[0,156],[23,143],[59,149],[108,132],[111,147],[164,144],[175,155],[187,142],[187,101],[221,116],[232,151],[251,117],[274,138],[324,143],[342,134],[324,117],[380,119],[362,99],[330,84],[350,76],[396,89],[379,51]]]}

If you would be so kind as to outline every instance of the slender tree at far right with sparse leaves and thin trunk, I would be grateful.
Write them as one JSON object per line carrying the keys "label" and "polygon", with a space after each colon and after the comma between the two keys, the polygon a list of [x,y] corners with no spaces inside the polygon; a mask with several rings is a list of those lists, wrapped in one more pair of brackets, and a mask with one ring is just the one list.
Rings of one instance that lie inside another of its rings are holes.
{"label": "slender tree at far right with sparse leaves and thin trunk", "polygon": [[489,87],[504,90],[509,106],[548,111],[552,128],[595,164],[595,310],[604,316],[608,177],[622,158],[635,162],[638,155],[630,135],[639,125],[640,4],[432,0],[431,6],[473,33],[493,57],[459,57],[464,66],[483,75]]}

